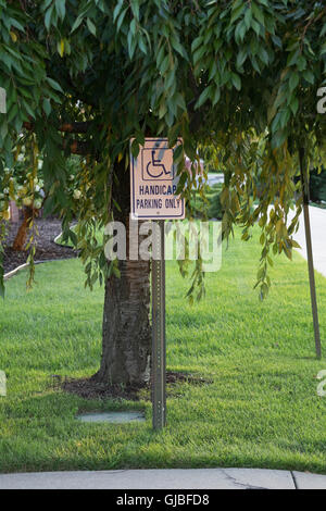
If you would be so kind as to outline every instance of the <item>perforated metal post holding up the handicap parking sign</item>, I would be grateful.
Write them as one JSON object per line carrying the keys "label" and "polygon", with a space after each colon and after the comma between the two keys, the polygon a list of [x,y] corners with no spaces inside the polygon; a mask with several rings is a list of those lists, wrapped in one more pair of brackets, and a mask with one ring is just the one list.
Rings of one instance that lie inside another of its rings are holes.
{"label": "perforated metal post holding up the handicap parking sign", "polygon": [[152,403],[153,428],[162,429],[166,424],[164,220],[156,225],[153,242],[160,259],[152,259]]}

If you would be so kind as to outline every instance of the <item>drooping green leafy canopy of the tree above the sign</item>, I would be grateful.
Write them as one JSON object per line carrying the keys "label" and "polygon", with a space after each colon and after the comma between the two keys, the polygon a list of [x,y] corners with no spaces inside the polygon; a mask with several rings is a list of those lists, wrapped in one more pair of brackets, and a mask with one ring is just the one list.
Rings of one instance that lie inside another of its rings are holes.
{"label": "drooping green leafy canopy of the tree above the sign", "polygon": [[[290,258],[294,246],[300,200],[289,227],[286,217],[298,148],[305,169],[323,158],[325,116],[316,113],[316,94],[326,84],[325,34],[318,1],[0,0],[0,87],[8,96],[0,192],[22,151],[41,153],[46,210],[61,212],[91,285],[106,271],[95,232],[120,208],[112,186],[123,178],[113,164],[125,159],[127,166],[129,139],[136,138],[137,153],[147,134],[171,144],[183,137],[176,160],[188,201],[204,187],[196,180],[198,165],[184,172],[185,153],[195,162],[199,145],[214,148],[215,166],[226,173],[225,235],[236,222],[244,239],[258,220],[262,227],[263,297],[271,251]],[[79,159],[85,192],[77,210],[71,152],[88,154]],[[33,195],[33,179],[30,187]],[[0,199],[0,217],[8,200]],[[77,237],[68,227],[76,213]],[[195,275],[201,283],[200,262]]]}

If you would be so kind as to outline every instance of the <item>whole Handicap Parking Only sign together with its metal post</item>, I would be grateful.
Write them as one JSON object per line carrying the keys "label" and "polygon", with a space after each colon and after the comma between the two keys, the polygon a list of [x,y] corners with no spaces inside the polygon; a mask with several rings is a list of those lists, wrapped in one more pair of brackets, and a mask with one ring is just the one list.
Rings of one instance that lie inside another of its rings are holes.
{"label": "whole Handicap Parking Only sign together with its metal post", "polygon": [[[131,140],[133,141],[133,140]],[[178,141],[180,144],[180,141]],[[174,150],[165,138],[147,138],[130,157],[131,219],[153,220],[152,247],[152,406],[153,428],[166,424],[165,240],[164,220],[185,217],[185,201],[176,195]]]}

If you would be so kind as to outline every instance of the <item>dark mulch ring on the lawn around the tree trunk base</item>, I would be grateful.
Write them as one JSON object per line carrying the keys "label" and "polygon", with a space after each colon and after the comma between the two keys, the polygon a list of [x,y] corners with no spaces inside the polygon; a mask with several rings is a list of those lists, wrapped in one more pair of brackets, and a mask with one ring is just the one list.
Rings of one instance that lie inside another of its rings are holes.
{"label": "dark mulch ring on the lawn around the tree trunk base", "polygon": [[[200,376],[193,376],[187,373],[176,373],[168,371],[166,373],[166,384],[167,384],[167,395],[168,387],[175,386],[178,383],[187,383],[190,385],[208,385],[212,381],[202,378]],[[127,386],[123,387],[121,385],[105,385],[102,383],[96,382],[93,378],[82,378],[74,379],[67,376],[52,376],[52,387],[54,389],[62,389],[65,392],[74,394],[84,399],[128,399],[131,401],[139,401],[140,397],[142,399],[148,398],[148,396],[139,396],[141,390],[150,390],[150,384],[142,387]]]}

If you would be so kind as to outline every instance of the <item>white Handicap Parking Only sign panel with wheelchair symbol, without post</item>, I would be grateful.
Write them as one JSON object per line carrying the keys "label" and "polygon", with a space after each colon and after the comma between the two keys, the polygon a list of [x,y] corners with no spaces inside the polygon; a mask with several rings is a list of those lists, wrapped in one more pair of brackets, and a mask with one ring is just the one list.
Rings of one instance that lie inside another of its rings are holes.
{"label": "white Handicap Parking Only sign panel with wheelchair symbol, without post", "polygon": [[[130,145],[133,140],[130,140]],[[185,200],[177,194],[179,176],[167,138],[146,138],[139,154],[130,154],[131,219],[185,219]]]}

